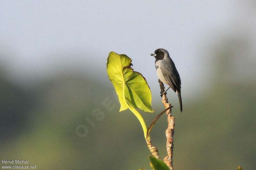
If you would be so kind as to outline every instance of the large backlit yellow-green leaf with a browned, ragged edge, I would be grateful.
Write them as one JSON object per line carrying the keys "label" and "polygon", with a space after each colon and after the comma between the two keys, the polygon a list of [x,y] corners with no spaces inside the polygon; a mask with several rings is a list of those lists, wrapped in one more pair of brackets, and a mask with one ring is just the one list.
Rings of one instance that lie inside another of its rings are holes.
{"label": "large backlit yellow-green leaf with a browned, ragged edge", "polygon": [[131,58],[124,54],[119,55],[112,51],[108,55],[108,78],[118,95],[121,105],[119,112],[126,110],[128,104],[145,112],[154,112],[148,83],[139,72],[133,71],[131,62]]}

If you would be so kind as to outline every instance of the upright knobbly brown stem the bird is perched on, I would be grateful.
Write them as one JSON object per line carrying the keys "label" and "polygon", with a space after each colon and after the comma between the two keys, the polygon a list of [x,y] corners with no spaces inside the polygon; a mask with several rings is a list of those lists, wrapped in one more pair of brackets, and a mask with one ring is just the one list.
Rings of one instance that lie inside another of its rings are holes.
{"label": "upright knobbly brown stem the bird is perched on", "polygon": [[[164,93],[163,82],[161,82],[160,80],[158,80],[158,82],[160,84],[161,93],[163,94],[162,103],[164,104],[164,107],[165,108],[172,107],[172,105],[168,103],[166,93]],[[167,122],[168,122],[168,127],[165,131],[167,156],[164,157],[164,163],[167,166],[169,166],[171,170],[173,170],[172,158],[173,158],[173,135],[174,135],[175,118],[172,116],[172,108],[166,111],[166,115],[167,115]]]}

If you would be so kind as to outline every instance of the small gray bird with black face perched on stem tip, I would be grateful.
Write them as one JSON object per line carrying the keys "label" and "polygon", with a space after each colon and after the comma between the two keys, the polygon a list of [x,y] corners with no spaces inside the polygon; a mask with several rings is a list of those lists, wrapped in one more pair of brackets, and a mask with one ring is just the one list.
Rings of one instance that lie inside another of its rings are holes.
{"label": "small gray bird with black face perched on stem tip", "polygon": [[180,75],[168,51],[166,51],[163,48],[159,48],[159,49],[156,49],[156,51],[151,55],[156,58],[155,66],[156,66],[156,74],[158,78],[166,85],[169,85],[172,88],[172,90],[178,94],[178,98],[180,102],[180,112],[182,112],[182,101],[181,101],[181,94],[180,94],[180,88],[181,88]]}

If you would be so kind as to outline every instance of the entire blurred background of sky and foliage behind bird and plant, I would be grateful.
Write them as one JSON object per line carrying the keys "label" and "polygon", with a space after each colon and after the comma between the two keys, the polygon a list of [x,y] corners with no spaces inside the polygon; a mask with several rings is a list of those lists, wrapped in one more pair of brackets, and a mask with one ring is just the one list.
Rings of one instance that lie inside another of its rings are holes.
{"label": "entire blurred background of sky and foliage behind bird and plant", "polygon": [[[175,169],[256,169],[256,2],[1,1],[0,158],[37,169],[149,166],[140,123],[121,113],[108,53],[132,58],[161,103],[155,59],[169,51],[181,77],[174,106]],[[166,155],[166,116],[151,132]],[[1,164],[4,165],[4,164]]]}

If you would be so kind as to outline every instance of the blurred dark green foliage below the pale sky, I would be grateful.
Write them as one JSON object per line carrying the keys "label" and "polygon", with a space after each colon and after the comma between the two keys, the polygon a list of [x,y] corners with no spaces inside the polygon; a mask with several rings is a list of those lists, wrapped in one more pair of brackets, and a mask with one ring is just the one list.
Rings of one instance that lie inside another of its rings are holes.
{"label": "blurred dark green foliage below the pale sky", "polygon": [[[197,96],[182,94],[182,114],[173,104],[174,168],[256,168],[255,79],[229,81],[220,74],[230,67],[223,62],[227,54],[216,55],[212,86]],[[64,72],[24,86],[8,75],[1,70],[1,159],[28,159],[44,170],[151,168],[140,124],[130,111],[118,113],[111,82]],[[176,101],[175,94],[167,96]],[[156,114],[164,108],[158,92],[153,107]],[[156,114],[142,116],[149,124]],[[162,116],[151,132],[162,158],[166,125]]]}

